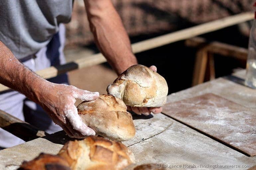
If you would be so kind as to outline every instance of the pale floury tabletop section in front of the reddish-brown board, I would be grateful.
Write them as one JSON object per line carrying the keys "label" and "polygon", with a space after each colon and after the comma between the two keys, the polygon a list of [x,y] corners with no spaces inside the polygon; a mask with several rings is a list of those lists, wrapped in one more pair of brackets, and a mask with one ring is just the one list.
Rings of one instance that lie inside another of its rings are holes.
{"label": "pale floury tabletop section in front of the reddish-brown board", "polygon": [[[250,167],[256,165],[255,156],[248,157],[180,122],[172,121],[173,124],[164,132],[129,147],[140,164],[195,165],[194,168],[176,168],[179,170],[212,170],[213,168],[206,167],[207,164],[208,166],[249,165]],[[202,167],[203,165],[204,167]],[[216,167],[215,169],[246,170],[249,167]]]}

